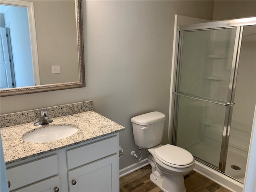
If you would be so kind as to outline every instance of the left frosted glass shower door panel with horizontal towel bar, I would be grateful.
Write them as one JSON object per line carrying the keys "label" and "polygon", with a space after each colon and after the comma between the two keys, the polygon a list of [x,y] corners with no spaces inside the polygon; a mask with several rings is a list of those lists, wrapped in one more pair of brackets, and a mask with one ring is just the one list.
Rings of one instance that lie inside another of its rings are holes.
{"label": "left frosted glass shower door panel with horizontal towel bar", "polygon": [[240,27],[181,31],[174,142],[223,168]]}

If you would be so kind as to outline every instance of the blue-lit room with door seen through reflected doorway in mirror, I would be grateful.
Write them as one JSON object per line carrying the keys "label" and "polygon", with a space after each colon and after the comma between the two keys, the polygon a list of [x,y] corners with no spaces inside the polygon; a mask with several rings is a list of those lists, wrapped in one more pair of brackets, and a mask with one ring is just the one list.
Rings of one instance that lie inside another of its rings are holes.
{"label": "blue-lit room with door seen through reflected doorway in mirror", "polygon": [[33,86],[35,82],[27,8],[0,5],[0,12],[0,88]]}

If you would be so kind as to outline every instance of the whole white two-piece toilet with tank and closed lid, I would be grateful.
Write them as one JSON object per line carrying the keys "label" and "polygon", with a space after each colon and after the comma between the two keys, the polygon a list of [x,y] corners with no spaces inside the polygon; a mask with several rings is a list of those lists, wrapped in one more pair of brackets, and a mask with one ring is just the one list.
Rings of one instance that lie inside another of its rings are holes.
{"label": "whole white two-piece toilet with tank and closed lid", "polygon": [[161,145],[166,117],[150,112],[131,119],[135,144],[148,151],[150,180],[164,192],[186,192],[183,176],[194,168],[194,157],[178,146]]}

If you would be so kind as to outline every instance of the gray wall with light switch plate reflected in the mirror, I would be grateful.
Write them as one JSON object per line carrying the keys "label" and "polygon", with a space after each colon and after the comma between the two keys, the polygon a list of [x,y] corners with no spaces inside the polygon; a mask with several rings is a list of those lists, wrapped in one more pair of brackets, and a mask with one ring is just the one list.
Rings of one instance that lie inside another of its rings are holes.
{"label": "gray wall with light switch plate reflected in the mirror", "polygon": [[[40,85],[78,81],[75,2],[31,1],[35,12]],[[60,66],[60,74],[52,74],[52,65]]]}

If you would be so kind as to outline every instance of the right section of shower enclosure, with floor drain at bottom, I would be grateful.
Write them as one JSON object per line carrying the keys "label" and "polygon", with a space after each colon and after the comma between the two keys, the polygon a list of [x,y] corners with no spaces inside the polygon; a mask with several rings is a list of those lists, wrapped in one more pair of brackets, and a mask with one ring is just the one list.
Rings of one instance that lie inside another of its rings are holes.
{"label": "right section of shower enclosure, with floor drain at bottom", "polygon": [[256,25],[244,26],[225,173],[244,182],[256,103]]}

